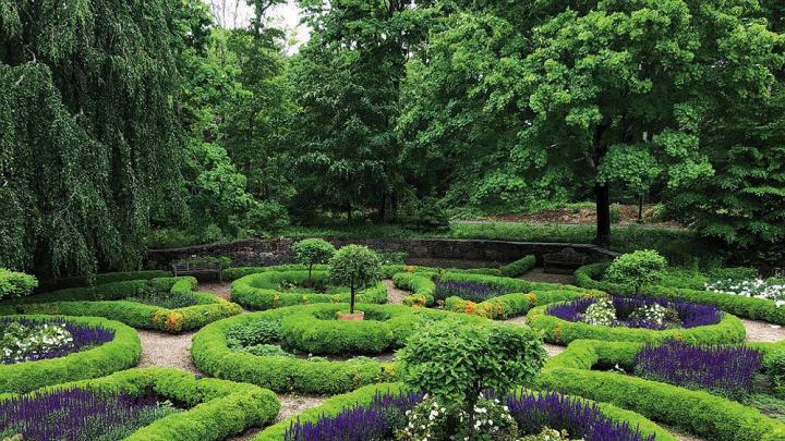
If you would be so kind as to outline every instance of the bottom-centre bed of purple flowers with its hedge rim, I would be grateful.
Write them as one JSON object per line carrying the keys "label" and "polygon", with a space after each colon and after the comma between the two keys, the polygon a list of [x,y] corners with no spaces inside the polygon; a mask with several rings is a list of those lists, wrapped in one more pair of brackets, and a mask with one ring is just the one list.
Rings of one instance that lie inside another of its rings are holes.
{"label": "bottom-centre bed of purple flowers with its hedge rim", "polygon": [[[254,441],[395,439],[392,433],[406,420],[407,411],[421,399],[422,394],[403,392],[397,383],[369,385],[334,396],[318,407],[271,426]],[[573,438],[583,437],[587,441],[674,440],[638,414],[582,399],[518,392],[504,404],[516,420],[520,436],[539,433],[544,427],[551,427],[571,430]]]}

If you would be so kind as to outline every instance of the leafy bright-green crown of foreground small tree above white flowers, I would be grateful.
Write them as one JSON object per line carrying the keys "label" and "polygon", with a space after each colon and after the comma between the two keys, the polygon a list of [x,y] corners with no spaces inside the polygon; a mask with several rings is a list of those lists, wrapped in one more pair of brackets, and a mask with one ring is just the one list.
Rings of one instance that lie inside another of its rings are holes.
{"label": "leafy bright-green crown of foreground small tree above white flowers", "polygon": [[545,357],[539,335],[527,327],[450,320],[423,328],[398,353],[408,385],[443,403],[471,404],[484,389],[505,393],[533,380]]}

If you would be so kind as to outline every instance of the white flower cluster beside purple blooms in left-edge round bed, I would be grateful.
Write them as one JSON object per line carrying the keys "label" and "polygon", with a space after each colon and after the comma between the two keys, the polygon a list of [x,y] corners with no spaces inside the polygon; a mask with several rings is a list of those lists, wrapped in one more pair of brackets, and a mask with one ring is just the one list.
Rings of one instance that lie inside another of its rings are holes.
{"label": "white flower cluster beside purple blooms in left-edge round bed", "polygon": [[28,327],[12,322],[0,334],[0,356],[10,363],[37,359],[51,351],[71,345],[71,332],[52,323]]}

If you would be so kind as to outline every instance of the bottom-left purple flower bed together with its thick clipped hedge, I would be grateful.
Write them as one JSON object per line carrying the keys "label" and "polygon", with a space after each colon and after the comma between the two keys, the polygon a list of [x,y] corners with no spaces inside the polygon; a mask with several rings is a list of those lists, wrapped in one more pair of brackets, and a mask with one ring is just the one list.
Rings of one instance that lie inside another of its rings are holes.
{"label": "bottom-left purple flower bed together with its thick clipped hedge", "polygon": [[[166,417],[156,418],[162,415],[160,406],[154,405],[154,401],[171,401],[181,411],[164,409]],[[23,407],[21,412],[20,403]],[[68,409],[52,415],[51,411],[59,404],[68,405]],[[36,412],[41,405],[49,412],[44,414],[45,420]],[[4,395],[0,396],[0,408],[3,406],[17,414],[14,415],[12,429],[25,426],[51,434],[73,432],[80,429],[78,417],[82,415],[89,418],[83,426],[88,431],[82,432],[87,437],[82,439],[98,439],[95,431],[119,426],[125,431],[122,434],[111,432],[109,438],[125,441],[222,440],[250,427],[269,424],[279,411],[278,399],[268,390],[252,384],[198,379],[166,368],[125,370],[109,377],[47,388],[22,397]],[[141,414],[150,409],[153,415],[142,417]],[[4,427],[2,418],[0,416],[0,427]],[[129,421],[132,424],[125,425]],[[0,431],[0,434],[5,433]]]}

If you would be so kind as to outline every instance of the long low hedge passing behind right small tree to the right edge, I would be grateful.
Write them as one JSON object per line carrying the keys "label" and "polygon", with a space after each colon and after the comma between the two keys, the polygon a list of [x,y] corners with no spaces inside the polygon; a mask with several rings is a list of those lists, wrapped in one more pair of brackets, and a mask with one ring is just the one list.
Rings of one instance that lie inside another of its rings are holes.
{"label": "long low hedge passing behind right small tree to the right edge", "polygon": [[[607,262],[602,262],[580,267],[575,272],[576,284],[612,294],[625,296],[635,295],[635,290],[631,287],[599,280],[605,273],[608,265]],[[692,303],[710,304],[738,317],[785,324],[785,307],[777,307],[774,301],[766,301],[764,298],[660,285],[643,286],[641,294],[649,297],[684,299]]]}

